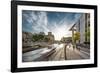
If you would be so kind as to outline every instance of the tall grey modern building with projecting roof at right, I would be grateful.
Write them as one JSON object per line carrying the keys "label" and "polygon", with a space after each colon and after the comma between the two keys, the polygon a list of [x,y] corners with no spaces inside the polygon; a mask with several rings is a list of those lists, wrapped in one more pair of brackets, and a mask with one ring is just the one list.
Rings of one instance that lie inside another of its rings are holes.
{"label": "tall grey modern building with projecting roof at right", "polygon": [[90,42],[90,36],[89,36],[90,29],[89,28],[90,28],[90,14],[83,13],[78,19],[78,21],[76,21],[74,25],[70,28],[70,31],[72,31],[72,41],[74,40],[74,33],[79,32],[80,39],[77,41],[77,43]]}

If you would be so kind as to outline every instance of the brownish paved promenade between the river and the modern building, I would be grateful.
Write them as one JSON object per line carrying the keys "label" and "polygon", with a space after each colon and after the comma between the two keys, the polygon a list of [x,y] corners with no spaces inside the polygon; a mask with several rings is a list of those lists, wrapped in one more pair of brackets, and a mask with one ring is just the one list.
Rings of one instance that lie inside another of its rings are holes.
{"label": "brownish paved promenade between the river and the modern building", "polygon": [[[66,57],[66,58],[65,58]],[[82,50],[73,49],[72,45],[69,44],[66,47],[66,56],[64,47],[56,49],[56,52],[48,57],[49,61],[59,61],[59,60],[79,60],[79,59],[89,59],[89,54],[82,52]]]}

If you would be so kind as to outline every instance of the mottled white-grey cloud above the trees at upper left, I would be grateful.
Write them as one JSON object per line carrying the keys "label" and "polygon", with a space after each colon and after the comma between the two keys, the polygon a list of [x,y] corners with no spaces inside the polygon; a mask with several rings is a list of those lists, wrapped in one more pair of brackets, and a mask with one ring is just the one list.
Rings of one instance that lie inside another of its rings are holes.
{"label": "mottled white-grey cloud above the trees at upper left", "polygon": [[[31,29],[30,32],[32,33],[49,31],[49,29],[47,28],[46,12],[23,11],[23,20],[26,20],[23,23],[23,31],[26,31],[26,29]],[[27,26],[27,28],[25,28],[25,26]]]}

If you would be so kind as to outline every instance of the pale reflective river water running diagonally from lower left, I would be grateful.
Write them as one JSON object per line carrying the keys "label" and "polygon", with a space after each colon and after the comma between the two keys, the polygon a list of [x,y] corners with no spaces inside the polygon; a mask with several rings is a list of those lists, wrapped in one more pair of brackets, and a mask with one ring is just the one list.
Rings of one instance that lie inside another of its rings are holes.
{"label": "pale reflective river water running diagonally from lower left", "polygon": [[37,49],[37,50],[23,53],[22,54],[22,61],[23,62],[32,62],[35,59],[41,57],[43,54],[51,51],[52,49],[54,49],[54,48],[59,49],[58,47],[62,47],[63,45],[62,44],[52,44],[51,46],[52,46],[52,48],[50,48],[50,49],[48,49],[46,47],[46,48],[41,48],[41,49]]}

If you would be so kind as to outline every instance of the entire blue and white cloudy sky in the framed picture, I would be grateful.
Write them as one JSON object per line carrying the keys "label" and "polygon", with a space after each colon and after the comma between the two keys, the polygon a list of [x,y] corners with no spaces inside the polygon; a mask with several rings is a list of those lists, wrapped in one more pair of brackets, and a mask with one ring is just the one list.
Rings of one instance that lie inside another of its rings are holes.
{"label": "entire blue and white cloudy sky in the framed picture", "polygon": [[55,40],[70,37],[71,26],[79,19],[82,13],[48,12],[22,10],[22,31],[39,33],[52,32]]}

